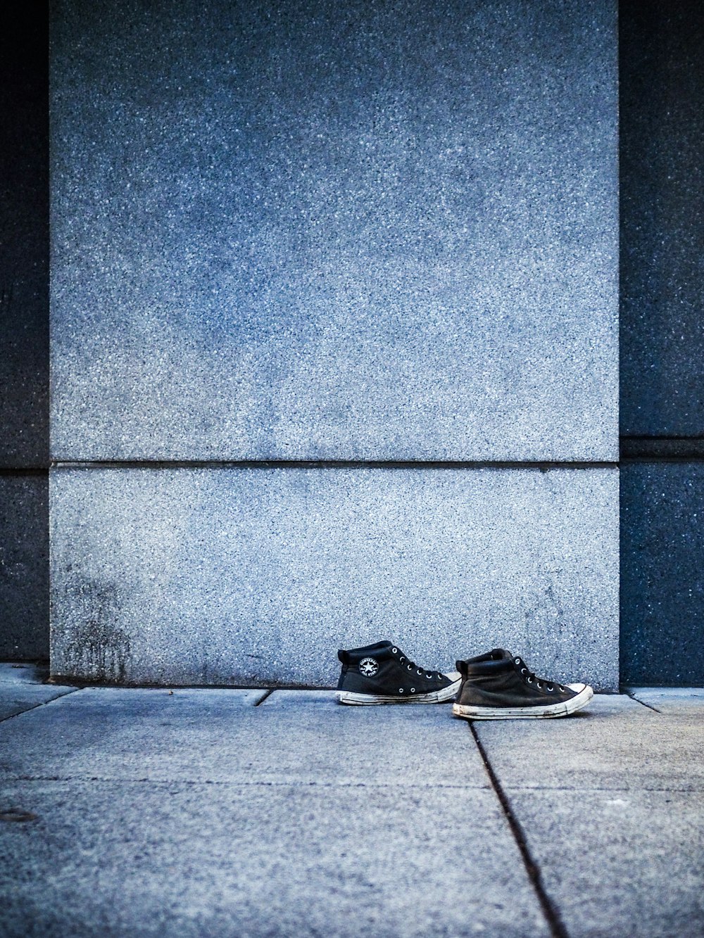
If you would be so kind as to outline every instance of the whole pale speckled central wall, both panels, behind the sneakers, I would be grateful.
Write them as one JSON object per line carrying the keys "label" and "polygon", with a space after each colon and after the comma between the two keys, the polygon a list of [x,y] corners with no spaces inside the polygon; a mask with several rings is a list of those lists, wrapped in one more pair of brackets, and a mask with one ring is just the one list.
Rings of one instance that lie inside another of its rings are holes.
{"label": "whole pale speckled central wall, both panels, behind the sneakers", "polygon": [[615,688],[615,4],[54,13],[54,673]]}

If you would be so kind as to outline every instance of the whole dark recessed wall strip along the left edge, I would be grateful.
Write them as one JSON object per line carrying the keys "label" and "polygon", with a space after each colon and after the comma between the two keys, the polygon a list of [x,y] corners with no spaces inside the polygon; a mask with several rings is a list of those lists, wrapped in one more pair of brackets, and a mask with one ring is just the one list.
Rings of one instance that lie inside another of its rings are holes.
{"label": "whole dark recessed wall strip along the left edge", "polygon": [[49,654],[47,25],[0,30],[0,658]]}

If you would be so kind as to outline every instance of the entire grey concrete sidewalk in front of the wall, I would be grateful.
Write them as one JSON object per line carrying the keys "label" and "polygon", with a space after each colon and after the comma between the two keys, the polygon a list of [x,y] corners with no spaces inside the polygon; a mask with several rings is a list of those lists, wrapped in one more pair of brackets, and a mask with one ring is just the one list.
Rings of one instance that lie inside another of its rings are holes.
{"label": "entire grey concrete sidewalk in front of the wall", "polygon": [[704,690],[471,726],[0,665],[2,936],[700,936]]}

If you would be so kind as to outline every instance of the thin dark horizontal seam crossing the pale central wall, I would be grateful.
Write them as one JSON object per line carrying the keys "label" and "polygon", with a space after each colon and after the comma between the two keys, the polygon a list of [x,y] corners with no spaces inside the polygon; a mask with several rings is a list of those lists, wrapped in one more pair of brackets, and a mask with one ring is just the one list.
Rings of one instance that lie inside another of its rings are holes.
{"label": "thin dark horizontal seam crossing the pale central wall", "polygon": [[617,469],[618,462],[401,460],[120,460],[54,461],[52,469]]}

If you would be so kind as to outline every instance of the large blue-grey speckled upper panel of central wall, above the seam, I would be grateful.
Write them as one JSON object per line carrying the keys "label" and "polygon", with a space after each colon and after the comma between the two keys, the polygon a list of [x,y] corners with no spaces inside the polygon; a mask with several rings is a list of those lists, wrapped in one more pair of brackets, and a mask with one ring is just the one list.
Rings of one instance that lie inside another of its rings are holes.
{"label": "large blue-grey speckled upper panel of central wall, above the seam", "polygon": [[618,458],[614,0],[175,9],[54,4],[54,458]]}

